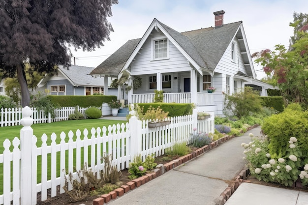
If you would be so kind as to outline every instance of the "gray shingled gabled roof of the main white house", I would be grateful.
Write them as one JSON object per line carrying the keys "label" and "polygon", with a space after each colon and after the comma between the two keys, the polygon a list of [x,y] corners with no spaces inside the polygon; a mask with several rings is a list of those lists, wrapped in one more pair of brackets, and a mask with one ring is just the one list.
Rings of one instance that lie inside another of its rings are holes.
{"label": "gray shingled gabled roof of the main white house", "polygon": [[171,40],[200,73],[200,70],[211,73],[216,68],[232,39],[237,35],[241,25],[242,22],[240,21],[225,24],[219,28],[210,27],[180,33],[154,19],[142,38],[127,41],[108,59],[92,70],[90,74],[117,76],[121,70],[127,69],[135,55],[142,48],[145,40],[156,27]]}

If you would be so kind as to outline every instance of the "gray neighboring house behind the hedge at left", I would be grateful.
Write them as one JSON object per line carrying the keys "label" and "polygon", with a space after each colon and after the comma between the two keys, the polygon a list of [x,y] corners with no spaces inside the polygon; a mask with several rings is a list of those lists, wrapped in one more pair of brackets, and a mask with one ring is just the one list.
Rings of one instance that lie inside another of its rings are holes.
{"label": "gray neighboring house behind the hedge at left", "polygon": [[[104,79],[88,75],[92,70],[93,67],[71,65],[67,69],[59,65],[58,74],[46,75],[37,86],[40,90],[47,91],[51,95],[103,94],[105,91]],[[110,86],[111,79],[109,81]],[[118,89],[109,88],[108,93],[109,95],[118,95]]]}

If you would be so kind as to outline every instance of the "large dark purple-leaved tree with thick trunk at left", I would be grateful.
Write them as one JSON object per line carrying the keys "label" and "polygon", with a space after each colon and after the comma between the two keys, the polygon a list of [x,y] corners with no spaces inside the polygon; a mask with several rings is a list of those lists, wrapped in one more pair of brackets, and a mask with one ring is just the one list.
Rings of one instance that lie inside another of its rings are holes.
{"label": "large dark purple-leaved tree with thick trunk at left", "polygon": [[38,72],[55,65],[70,65],[74,49],[92,51],[110,40],[113,31],[107,17],[118,0],[1,0],[0,72],[17,73],[22,106],[29,106],[30,93],[25,75],[29,63]]}

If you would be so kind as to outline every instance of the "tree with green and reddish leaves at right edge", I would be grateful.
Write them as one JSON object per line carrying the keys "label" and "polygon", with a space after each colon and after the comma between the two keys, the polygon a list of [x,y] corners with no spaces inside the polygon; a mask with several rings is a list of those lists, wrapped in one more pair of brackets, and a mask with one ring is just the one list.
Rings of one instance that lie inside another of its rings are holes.
{"label": "tree with green and reddish leaves at right edge", "polygon": [[252,54],[255,62],[263,66],[267,75],[274,79],[281,95],[288,102],[298,102],[308,108],[308,24],[298,27],[299,21],[290,23],[298,28],[292,49],[276,45],[275,51],[269,49]]}

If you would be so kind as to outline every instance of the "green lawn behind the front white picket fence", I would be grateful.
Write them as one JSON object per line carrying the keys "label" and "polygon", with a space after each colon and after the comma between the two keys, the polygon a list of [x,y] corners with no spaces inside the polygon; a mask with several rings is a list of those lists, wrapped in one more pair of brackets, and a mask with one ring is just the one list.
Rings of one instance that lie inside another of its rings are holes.
{"label": "green lawn behind the front white picket fence", "polygon": [[[120,121],[120,120],[107,120],[107,119],[80,119],[80,120],[68,120],[68,121],[59,121],[59,122],[52,122],[52,123],[42,123],[42,124],[33,124],[31,127],[33,129],[33,135],[35,135],[38,140],[37,140],[37,146],[41,146],[41,136],[45,133],[48,137],[47,145],[49,146],[51,143],[50,136],[52,133],[57,134],[57,144],[60,144],[61,138],[60,134],[63,131],[66,134],[66,140],[65,142],[68,141],[68,132],[71,130],[74,133],[77,131],[77,129],[80,129],[81,131],[81,140],[83,140],[83,130],[88,129],[89,134],[88,138],[91,137],[91,129],[94,127],[95,129],[97,127],[102,128],[103,126],[108,127],[108,125],[113,125],[113,124],[122,124],[126,123],[126,121]],[[3,153],[3,141],[5,139],[9,139],[11,142],[15,137],[19,137],[20,134],[20,129],[22,126],[9,126],[9,127],[0,127],[0,154]],[[101,133],[102,134],[102,133]],[[76,136],[74,135],[74,140]],[[11,146],[11,150],[13,147]],[[68,154],[68,151],[66,151],[66,155]],[[76,150],[74,150],[74,156],[75,156]],[[81,157],[83,161],[83,148],[81,149]],[[89,155],[91,155],[91,147],[89,147]],[[90,156],[89,156],[90,157]],[[60,152],[57,154],[57,176],[60,176]],[[50,161],[50,154],[48,154],[48,161]],[[90,158],[89,158],[90,160]],[[66,161],[67,161],[67,156],[66,156]],[[89,161],[90,162],[90,161]],[[67,163],[67,162],[66,162]],[[75,166],[76,161],[74,160],[74,166]],[[37,182],[39,183],[41,181],[41,157],[37,157]],[[0,194],[3,193],[3,164],[0,164]],[[50,179],[50,167],[48,169],[48,179]]]}

